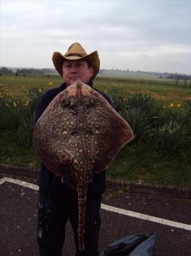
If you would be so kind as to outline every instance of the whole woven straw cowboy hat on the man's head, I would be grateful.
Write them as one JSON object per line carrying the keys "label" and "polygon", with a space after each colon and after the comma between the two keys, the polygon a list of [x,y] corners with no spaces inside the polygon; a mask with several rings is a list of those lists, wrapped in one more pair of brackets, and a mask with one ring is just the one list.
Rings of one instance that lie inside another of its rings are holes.
{"label": "whole woven straw cowboy hat on the man's head", "polygon": [[54,67],[62,76],[62,65],[64,60],[87,60],[88,63],[92,66],[94,72],[91,79],[95,79],[97,73],[100,69],[100,60],[97,51],[87,54],[84,48],[77,42],[71,44],[65,55],[62,55],[60,52],[54,52],[52,60]]}

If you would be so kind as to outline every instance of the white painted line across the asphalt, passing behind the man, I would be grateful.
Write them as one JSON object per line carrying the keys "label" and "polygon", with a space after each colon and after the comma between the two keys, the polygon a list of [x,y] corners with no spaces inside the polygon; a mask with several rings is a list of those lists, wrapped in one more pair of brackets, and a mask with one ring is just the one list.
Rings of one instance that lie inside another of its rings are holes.
{"label": "white painted line across the asphalt, passing behind the man", "polygon": [[[37,191],[39,190],[39,186],[37,186],[37,185],[31,184],[31,183],[28,183],[28,182],[22,181],[22,180],[15,180],[15,179],[12,179],[9,177],[4,177],[4,178],[0,179],[0,185],[6,181],[8,181],[10,183],[22,185],[23,187],[32,188]],[[156,222],[156,223],[167,225],[167,226],[173,226],[174,228],[191,230],[191,225],[188,225],[188,224],[184,224],[184,223],[176,222],[176,221],[165,220],[164,218],[158,218],[158,217],[154,217],[154,216],[150,216],[150,215],[142,214],[142,213],[138,213],[138,212],[132,212],[131,210],[120,209],[120,208],[112,207],[112,206],[106,205],[106,204],[101,204],[101,209],[109,210],[110,212],[115,212],[118,214],[130,216],[130,217],[141,218],[142,220],[152,221],[152,222]]]}

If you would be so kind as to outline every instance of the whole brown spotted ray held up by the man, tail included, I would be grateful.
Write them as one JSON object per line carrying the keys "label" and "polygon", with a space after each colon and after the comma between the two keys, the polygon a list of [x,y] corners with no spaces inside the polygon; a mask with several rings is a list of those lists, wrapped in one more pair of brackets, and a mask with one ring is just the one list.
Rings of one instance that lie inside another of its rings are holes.
{"label": "whole brown spotted ray held up by the man, tail included", "polygon": [[84,250],[87,185],[133,131],[103,96],[80,81],[58,94],[35,125],[33,144],[50,171],[78,191],[79,248]]}

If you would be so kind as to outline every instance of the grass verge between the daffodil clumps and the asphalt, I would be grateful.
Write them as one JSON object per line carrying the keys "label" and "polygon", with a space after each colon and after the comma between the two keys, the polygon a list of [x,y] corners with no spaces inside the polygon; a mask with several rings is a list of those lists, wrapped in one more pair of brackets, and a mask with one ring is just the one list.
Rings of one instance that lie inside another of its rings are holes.
{"label": "grass verge between the daffodil clumps and the asphalt", "polygon": [[[33,148],[19,146],[17,136],[16,131],[1,130],[0,162],[40,168],[40,161]],[[185,148],[174,158],[164,158],[154,152],[152,146],[130,143],[122,148],[108,167],[107,176],[117,180],[191,188],[190,154],[190,148]]]}

